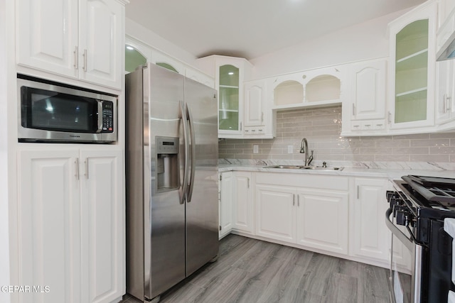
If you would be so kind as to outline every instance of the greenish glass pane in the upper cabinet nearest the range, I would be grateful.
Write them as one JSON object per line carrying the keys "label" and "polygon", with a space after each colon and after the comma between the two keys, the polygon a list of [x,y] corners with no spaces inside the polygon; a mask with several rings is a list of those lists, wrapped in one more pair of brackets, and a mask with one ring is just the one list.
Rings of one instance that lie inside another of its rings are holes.
{"label": "greenish glass pane in the upper cabinet nearest the range", "polygon": [[427,120],[428,33],[424,19],[396,35],[394,123]]}

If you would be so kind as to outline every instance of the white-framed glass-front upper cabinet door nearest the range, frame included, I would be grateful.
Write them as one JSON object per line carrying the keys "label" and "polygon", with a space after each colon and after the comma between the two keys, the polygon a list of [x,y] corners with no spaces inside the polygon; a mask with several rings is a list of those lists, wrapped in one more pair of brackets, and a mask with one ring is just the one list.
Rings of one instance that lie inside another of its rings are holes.
{"label": "white-framed glass-front upper cabinet door nearest the range, frame included", "polygon": [[434,123],[436,16],[429,1],[389,24],[391,129]]}

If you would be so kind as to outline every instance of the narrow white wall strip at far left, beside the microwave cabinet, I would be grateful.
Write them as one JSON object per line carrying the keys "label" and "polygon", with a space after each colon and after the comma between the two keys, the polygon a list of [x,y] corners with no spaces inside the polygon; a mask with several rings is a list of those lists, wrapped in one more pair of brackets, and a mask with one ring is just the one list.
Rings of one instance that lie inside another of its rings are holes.
{"label": "narrow white wall strip at far left, beside the microwave cabinet", "polygon": [[[0,1],[0,286],[11,285],[9,279],[9,207],[8,207],[8,72],[7,11],[13,1]],[[10,302],[9,293],[0,290],[0,302]]]}

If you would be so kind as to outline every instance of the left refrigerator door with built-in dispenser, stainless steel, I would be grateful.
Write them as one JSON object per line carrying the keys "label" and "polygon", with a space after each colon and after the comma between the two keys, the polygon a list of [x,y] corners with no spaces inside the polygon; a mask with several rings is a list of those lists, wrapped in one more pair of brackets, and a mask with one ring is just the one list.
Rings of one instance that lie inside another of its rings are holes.
{"label": "left refrigerator door with built-in dispenser, stainless steel", "polygon": [[181,203],[184,201],[181,199],[185,158],[181,119],[184,77],[153,64],[147,70],[144,75],[144,288],[146,299],[153,299],[183,280],[186,274],[185,204]]}

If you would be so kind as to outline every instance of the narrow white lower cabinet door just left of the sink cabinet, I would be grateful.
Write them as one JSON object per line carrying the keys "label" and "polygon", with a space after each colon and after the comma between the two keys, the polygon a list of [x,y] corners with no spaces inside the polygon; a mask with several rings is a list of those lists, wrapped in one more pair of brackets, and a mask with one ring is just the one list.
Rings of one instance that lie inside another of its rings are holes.
{"label": "narrow white lower cabinet door just left of the sink cabinet", "polygon": [[253,201],[251,173],[235,172],[235,201],[233,203],[233,228],[238,231],[253,232]]}

